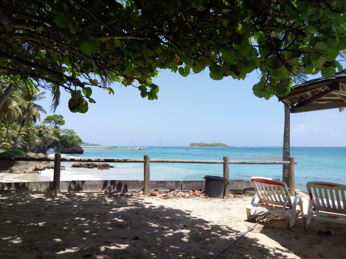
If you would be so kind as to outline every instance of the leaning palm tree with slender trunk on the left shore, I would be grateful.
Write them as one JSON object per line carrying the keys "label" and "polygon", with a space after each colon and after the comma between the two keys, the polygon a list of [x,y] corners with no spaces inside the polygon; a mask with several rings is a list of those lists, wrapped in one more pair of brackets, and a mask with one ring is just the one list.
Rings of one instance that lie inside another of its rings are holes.
{"label": "leaning palm tree with slender trunk on the left shore", "polygon": [[41,105],[34,103],[36,101],[39,101],[39,100],[46,98],[44,96],[44,94],[45,94],[45,92],[33,95],[33,99],[31,101],[27,102],[26,107],[22,107],[22,109],[21,109],[22,116],[21,116],[20,128],[18,130],[17,137],[15,138],[15,141],[13,142],[13,146],[12,146],[11,150],[13,150],[13,148],[15,148],[15,146],[17,144],[18,137],[20,135],[20,132],[21,132],[25,122],[32,120],[34,123],[36,123],[37,121],[40,121],[40,112],[44,113],[44,114],[47,113]]}

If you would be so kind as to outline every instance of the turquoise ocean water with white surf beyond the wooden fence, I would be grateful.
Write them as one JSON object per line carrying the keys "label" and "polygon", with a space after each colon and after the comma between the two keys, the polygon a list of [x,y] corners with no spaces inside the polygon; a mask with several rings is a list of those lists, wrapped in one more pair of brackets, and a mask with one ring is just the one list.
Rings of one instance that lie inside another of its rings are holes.
{"label": "turquoise ocean water with white surf beyond the wooden fence", "polygon": [[[75,158],[181,160],[280,161],[282,147],[148,147],[147,150],[85,150]],[[50,156],[54,156],[51,154]],[[346,147],[291,147],[295,165],[295,188],[306,191],[308,181],[328,181],[346,184]],[[143,180],[143,163],[111,163],[110,170],[82,169],[63,162],[61,180]],[[52,170],[42,173],[53,177]],[[229,165],[230,179],[250,180],[252,176],[282,177],[282,165]],[[151,180],[203,180],[204,175],[222,176],[222,164],[151,163]]]}

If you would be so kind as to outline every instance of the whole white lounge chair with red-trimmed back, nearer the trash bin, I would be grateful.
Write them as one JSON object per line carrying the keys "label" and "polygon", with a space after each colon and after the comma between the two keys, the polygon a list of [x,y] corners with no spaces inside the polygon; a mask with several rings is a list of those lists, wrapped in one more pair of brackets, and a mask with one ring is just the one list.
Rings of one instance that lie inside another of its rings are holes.
{"label": "whole white lounge chair with red-trimmed back, nearer the trash bin", "polygon": [[[303,214],[303,198],[301,195],[291,197],[285,182],[265,177],[252,177],[255,195],[251,204],[246,206],[247,219],[255,217],[256,211],[264,211],[286,217],[287,228],[294,224],[295,208],[299,202]],[[254,210],[251,213],[251,210]],[[291,214],[291,216],[290,216]]]}

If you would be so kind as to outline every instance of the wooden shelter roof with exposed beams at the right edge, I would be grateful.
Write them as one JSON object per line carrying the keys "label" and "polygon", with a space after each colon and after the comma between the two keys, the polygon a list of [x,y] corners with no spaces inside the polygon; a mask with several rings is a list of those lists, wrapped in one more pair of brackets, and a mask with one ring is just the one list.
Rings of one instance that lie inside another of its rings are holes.
{"label": "wooden shelter roof with exposed beams at the right edge", "polygon": [[332,77],[320,77],[293,86],[290,94],[279,102],[291,108],[291,113],[346,108],[346,69]]}

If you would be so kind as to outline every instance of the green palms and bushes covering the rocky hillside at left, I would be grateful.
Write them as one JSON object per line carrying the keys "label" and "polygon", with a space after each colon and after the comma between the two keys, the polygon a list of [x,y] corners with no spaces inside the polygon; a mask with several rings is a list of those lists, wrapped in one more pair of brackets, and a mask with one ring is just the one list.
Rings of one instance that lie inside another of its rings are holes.
{"label": "green palms and bushes covering the rocky hillside at left", "polygon": [[[0,94],[3,94],[5,88],[0,80]],[[74,131],[71,135],[71,130],[61,130],[60,126],[65,124],[62,115],[48,115],[43,124],[36,125],[41,115],[46,113],[43,107],[37,104],[45,98],[44,92],[36,93],[28,101],[22,91],[12,91],[0,108],[0,150],[14,151],[15,148],[34,147],[40,139],[61,140],[68,146],[79,145],[81,140]],[[69,138],[72,140],[69,141]]]}

